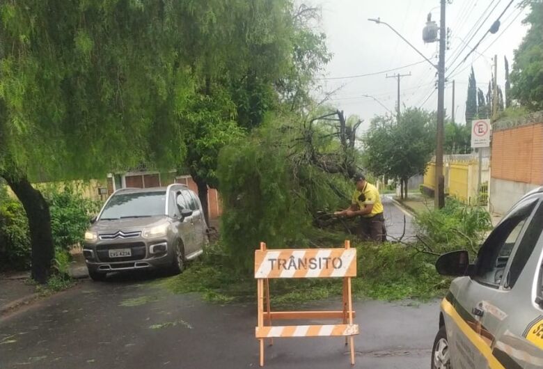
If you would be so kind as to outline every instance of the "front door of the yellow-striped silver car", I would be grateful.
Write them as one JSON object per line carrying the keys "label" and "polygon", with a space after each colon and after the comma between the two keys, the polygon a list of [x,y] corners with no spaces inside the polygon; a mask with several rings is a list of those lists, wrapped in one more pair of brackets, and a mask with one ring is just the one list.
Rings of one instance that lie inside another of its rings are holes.
{"label": "front door of the yellow-striped silver car", "polygon": [[511,291],[503,288],[505,271],[538,202],[538,198],[527,198],[515,205],[482,244],[472,276],[459,278],[451,288],[454,296],[450,299],[463,321],[455,324],[450,339],[455,350],[453,368],[496,367],[495,334],[507,317],[496,301],[511,298]]}

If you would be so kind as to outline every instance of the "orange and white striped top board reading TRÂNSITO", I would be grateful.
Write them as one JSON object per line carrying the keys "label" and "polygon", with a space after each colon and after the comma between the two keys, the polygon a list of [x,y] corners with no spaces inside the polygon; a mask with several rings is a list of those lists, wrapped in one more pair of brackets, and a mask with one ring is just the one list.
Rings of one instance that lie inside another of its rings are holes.
{"label": "orange and white striped top board reading TR\u00c2NSITO", "polygon": [[255,251],[255,278],[356,276],[356,249]]}

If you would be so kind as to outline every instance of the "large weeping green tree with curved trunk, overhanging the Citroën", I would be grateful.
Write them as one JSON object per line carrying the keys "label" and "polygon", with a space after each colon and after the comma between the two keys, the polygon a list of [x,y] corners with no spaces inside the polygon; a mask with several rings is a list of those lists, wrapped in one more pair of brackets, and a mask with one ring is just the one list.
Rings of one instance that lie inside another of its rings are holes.
{"label": "large weeping green tree with curved trunk, overhanging the Citro\u00ebn", "polygon": [[314,15],[289,0],[2,1],[0,176],[29,217],[33,277],[53,245],[31,181],[183,167],[207,210],[219,150],[308,102],[329,57]]}

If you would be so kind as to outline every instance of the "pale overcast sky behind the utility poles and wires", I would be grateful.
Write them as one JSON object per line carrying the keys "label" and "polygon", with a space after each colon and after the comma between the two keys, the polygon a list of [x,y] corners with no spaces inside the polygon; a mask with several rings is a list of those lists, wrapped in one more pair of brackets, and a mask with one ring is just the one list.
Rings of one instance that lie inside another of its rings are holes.
{"label": "pale overcast sky behind the utility poles and wires", "polygon": [[[509,2],[453,0],[447,4],[446,26],[450,28],[450,42],[446,51],[448,82],[445,107],[450,116],[453,109],[451,81],[454,79],[455,121],[459,123],[465,123],[466,92],[472,65],[478,87],[486,93],[494,54],[497,54],[498,85],[504,89],[503,58],[507,56],[511,70],[514,49],[519,46],[528,29],[522,24],[528,8],[522,10],[517,7],[521,0],[514,0],[505,11],[499,31],[487,34],[475,52],[464,63],[460,63]],[[356,114],[363,119],[363,130],[369,127],[373,116],[389,111],[395,113],[398,81],[396,78],[386,78],[387,73],[368,77],[338,77],[381,72],[424,60],[391,29],[384,24],[369,22],[368,18],[381,18],[381,21],[393,26],[427,58],[437,63],[439,42],[425,44],[422,31],[428,13],[432,13],[432,20],[439,25],[439,0],[314,0],[312,3],[322,8],[320,29],[326,33],[329,52],[333,54],[319,81],[326,92],[337,89],[331,96],[331,104],[345,111],[347,116]],[[482,26],[477,31],[480,24]],[[464,48],[465,42],[470,47]],[[388,72],[388,76],[398,72],[411,73],[411,76],[400,79],[402,110],[404,104],[406,107],[437,109],[437,91],[434,88],[436,70],[430,63],[424,61],[393,70]],[[384,107],[371,97],[361,95],[372,95]],[[324,97],[324,92],[316,93],[316,97]]]}

